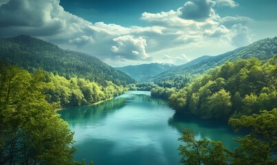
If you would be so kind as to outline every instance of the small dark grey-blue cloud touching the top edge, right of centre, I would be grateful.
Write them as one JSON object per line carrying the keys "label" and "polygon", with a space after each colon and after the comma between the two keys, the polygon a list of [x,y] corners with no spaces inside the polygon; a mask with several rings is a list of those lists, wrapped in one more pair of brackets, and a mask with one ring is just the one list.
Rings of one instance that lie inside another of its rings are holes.
{"label": "small dark grey-blue cloud touching the top edge, right of centre", "polygon": [[179,8],[182,19],[205,20],[215,16],[212,7],[215,5],[214,1],[210,0],[194,0],[185,3],[184,7]]}

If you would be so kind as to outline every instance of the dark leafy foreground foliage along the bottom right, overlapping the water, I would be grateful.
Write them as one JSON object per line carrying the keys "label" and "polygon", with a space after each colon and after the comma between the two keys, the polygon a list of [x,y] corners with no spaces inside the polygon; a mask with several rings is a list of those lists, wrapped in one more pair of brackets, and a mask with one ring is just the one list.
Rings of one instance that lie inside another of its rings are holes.
{"label": "dark leafy foreground foliage along the bottom right, overlapping the water", "polygon": [[247,129],[250,133],[234,139],[240,145],[234,151],[224,148],[221,142],[208,139],[195,140],[191,130],[185,130],[178,148],[183,164],[276,164],[277,157],[277,109],[261,111],[261,114],[230,119],[236,131]]}

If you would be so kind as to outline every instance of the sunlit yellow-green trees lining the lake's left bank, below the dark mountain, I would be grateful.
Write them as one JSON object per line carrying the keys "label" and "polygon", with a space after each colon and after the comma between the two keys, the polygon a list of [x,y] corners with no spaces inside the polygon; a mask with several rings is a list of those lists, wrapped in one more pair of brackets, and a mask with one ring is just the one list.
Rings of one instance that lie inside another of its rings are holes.
{"label": "sunlit yellow-green trees lining the lake's left bank, below the dark mountain", "polygon": [[102,100],[113,98],[127,91],[126,87],[118,86],[110,81],[100,86],[85,78],[70,78],[44,72],[47,86],[45,86],[46,99],[50,103],[60,107],[78,106],[81,104],[93,104]]}

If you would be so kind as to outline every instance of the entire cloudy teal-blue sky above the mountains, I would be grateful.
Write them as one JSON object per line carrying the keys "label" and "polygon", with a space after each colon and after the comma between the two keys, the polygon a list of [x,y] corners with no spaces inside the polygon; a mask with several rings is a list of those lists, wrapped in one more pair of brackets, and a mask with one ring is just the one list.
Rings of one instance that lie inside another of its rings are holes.
{"label": "entire cloudy teal-blue sky above the mountains", "polygon": [[182,65],[277,36],[276,0],[0,0],[0,37],[28,34],[113,67]]}

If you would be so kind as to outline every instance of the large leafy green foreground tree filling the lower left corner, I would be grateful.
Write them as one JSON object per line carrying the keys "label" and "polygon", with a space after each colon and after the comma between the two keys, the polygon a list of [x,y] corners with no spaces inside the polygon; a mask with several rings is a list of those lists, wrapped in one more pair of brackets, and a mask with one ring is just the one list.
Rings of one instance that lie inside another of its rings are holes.
{"label": "large leafy green foreground tree filling the lower left corner", "polygon": [[40,70],[0,64],[0,164],[67,164],[73,133],[45,100]]}

